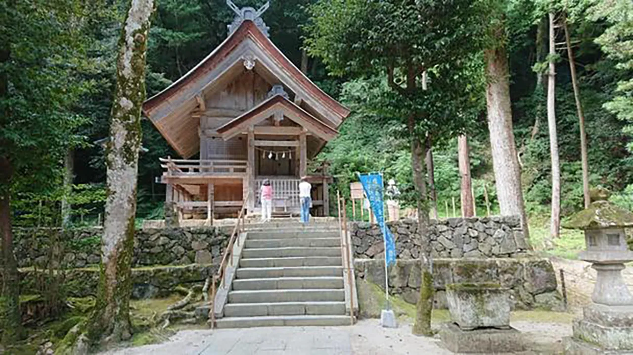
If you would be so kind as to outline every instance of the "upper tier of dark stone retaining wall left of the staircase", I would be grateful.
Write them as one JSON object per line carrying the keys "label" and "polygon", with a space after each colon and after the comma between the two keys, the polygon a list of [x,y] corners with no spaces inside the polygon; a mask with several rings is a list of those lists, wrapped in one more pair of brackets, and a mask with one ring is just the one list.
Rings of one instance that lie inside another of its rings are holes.
{"label": "upper tier of dark stone retaining wall left of the staircase", "polygon": [[[52,255],[63,255],[61,265],[84,268],[101,261],[101,228],[16,228],[14,252],[18,266],[44,267]],[[61,250],[51,250],[60,240]],[[132,266],[219,264],[229,242],[225,228],[137,229]]]}

